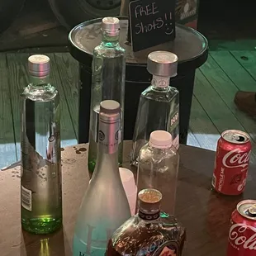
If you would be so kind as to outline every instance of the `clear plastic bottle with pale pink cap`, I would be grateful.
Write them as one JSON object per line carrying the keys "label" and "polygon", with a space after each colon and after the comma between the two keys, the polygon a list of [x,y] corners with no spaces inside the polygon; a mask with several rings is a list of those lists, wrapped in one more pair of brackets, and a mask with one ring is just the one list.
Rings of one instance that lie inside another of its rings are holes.
{"label": "clear plastic bottle with pale pink cap", "polygon": [[178,183],[179,154],[172,145],[172,135],[165,130],[151,133],[149,143],[140,149],[137,187],[147,187],[163,194],[162,211],[174,215]]}

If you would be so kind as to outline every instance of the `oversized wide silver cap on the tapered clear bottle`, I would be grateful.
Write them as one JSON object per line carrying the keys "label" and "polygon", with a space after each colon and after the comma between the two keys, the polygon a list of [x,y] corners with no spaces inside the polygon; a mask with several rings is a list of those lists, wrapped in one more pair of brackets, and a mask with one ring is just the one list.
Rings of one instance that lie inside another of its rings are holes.
{"label": "oversized wide silver cap on the tapered clear bottle", "polygon": [[173,78],[177,75],[178,57],[168,51],[154,51],[148,55],[147,69],[153,75]]}

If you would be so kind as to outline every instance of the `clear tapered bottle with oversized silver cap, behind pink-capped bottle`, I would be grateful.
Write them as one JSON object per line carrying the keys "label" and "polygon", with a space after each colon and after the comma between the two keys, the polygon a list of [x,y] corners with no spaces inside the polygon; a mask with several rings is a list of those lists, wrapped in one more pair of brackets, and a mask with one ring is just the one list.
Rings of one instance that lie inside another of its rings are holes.
{"label": "clear tapered bottle with oversized silver cap, behind pink-capped bottle", "polygon": [[149,141],[154,130],[168,130],[173,135],[173,145],[178,149],[178,90],[169,86],[170,78],[177,75],[178,57],[166,51],[154,51],[148,56],[147,69],[153,74],[149,88],[140,95],[135,122],[130,164],[137,166],[142,146]]}

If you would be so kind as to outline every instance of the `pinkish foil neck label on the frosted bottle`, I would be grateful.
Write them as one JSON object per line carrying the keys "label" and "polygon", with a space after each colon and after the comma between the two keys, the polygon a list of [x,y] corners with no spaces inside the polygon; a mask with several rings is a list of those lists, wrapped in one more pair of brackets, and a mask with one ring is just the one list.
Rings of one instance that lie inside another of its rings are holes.
{"label": "pinkish foil neck label on the frosted bottle", "polygon": [[100,121],[98,143],[107,150],[108,154],[113,154],[118,150],[120,135],[120,121],[112,123]]}

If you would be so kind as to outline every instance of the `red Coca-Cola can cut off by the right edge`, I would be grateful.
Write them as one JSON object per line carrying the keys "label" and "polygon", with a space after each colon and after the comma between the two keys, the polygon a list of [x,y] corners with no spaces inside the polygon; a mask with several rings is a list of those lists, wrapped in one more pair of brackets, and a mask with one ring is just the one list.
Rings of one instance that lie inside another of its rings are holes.
{"label": "red Coca-Cola can cut off by the right edge", "polygon": [[231,215],[227,256],[255,255],[256,200],[244,200]]}

